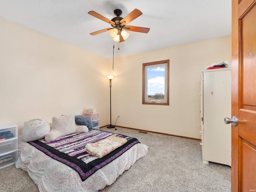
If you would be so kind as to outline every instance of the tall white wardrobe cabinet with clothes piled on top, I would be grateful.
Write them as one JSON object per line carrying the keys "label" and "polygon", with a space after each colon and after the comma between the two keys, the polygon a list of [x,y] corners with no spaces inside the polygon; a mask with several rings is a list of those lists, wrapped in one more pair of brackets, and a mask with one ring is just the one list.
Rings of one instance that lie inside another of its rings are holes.
{"label": "tall white wardrobe cabinet with clothes piled on top", "polygon": [[203,162],[231,166],[231,68],[211,69],[201,74],[200,135]]}

